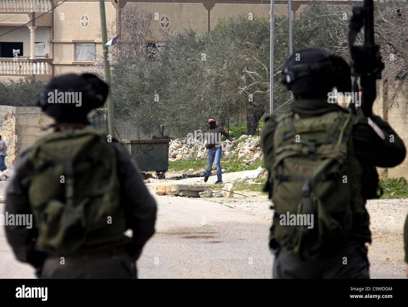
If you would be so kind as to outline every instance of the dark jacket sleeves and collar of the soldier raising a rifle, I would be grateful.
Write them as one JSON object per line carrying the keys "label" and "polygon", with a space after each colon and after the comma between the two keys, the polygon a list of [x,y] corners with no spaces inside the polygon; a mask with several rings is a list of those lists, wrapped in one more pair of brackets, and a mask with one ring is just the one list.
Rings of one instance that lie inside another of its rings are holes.
{"label": "dark jacket sleeves and collar of the soldier raising a rifle", "polygon": [[[344,110],[337,104],[328,103],[327,100],[295,100],[290,108],[300,117],[322,116],[328,112]],[[344,112],[347,112],[344,110]],[[261,147],[264,153],[264,165],[270,170],[273,165],[273,135],[276,128],[278,115],[269,116],[265,120],[265,126],[261,134]],[[400,164],[406,155],[404,142],[397,133],[379,116],[373,116],[372,120],[384,133],[382,140],[374,129],[368,125],[368,118],[359,118],[353,126],[353,148],[357,160],[363,167],[395,167]],[[390,135],[394,136],[394,142],[390,142]],[[371,233],[368,228],[369,216],[364,207],[364,212],[353,218],[353,237],[357,241],[371,242]]]}

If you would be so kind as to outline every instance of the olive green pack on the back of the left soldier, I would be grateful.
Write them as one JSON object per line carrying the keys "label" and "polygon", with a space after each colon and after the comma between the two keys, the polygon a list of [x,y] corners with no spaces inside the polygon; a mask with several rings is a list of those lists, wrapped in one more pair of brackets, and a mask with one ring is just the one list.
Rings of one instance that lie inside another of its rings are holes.
{"label": "olive green pack on the back of the left soldier", "polygon": [[49,134],[35,143],[29,160],[29,202],[40,250],[69,254],[124,237],[117,158],[105,134]]}

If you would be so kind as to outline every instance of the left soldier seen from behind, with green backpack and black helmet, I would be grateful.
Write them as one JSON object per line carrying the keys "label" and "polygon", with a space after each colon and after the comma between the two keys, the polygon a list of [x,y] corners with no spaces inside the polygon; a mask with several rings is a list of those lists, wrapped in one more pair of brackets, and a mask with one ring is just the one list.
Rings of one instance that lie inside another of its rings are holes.
{"label": "left soldier seen from behind, with green backpack and black helmet", "polygon": [[108,91],[95,75],[69,74],[38,95],[55,131],[20,153],[6,194],[9,215],[33,215],[32,228],[9,225],[6,235],[38,277],[135,278],[135,261],[155,231],[156,203],[135,160],[86,127]]}

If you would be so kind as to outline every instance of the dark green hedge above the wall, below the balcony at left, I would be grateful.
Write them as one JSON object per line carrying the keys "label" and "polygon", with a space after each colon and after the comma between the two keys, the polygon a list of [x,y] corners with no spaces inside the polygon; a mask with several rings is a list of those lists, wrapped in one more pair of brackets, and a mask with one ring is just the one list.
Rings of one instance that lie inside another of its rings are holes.
{"label": "dark green hedge above the wall, below the balcony at left", "polygon": [[44,83],[29,78],[22,78],[9,83],[0,82],[0,105],[13,107],[34,107],[35,97]]}

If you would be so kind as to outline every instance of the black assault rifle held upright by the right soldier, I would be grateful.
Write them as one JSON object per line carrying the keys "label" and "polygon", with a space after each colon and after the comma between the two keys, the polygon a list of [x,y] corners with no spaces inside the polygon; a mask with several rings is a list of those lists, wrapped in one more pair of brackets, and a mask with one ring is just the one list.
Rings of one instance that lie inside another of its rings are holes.
{"label": "black assault rifle held upright by the right soldier", "polygon": [[[353,16],[350,19],[348,32],[348,47],[351,56],[351,77],[353,92],[358,92],[357,77],[363,103],[357,110],[354,104],[348,107],[354,114],[370,117],[373,115],[373,103],[377,96],[375,81],[381,79],[381,62],[379,45],[374,43],[374,4],[373,0],[364,0],[364,5],[353,6]],[[357,34],[364,25],[364,44],[354,44]],[[362,114],[361,114],[362,113]]]}

